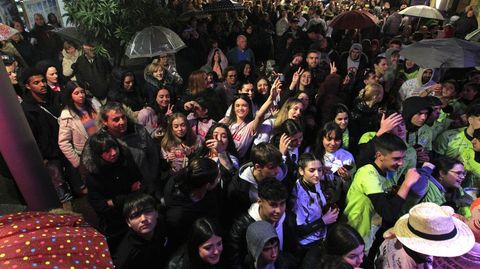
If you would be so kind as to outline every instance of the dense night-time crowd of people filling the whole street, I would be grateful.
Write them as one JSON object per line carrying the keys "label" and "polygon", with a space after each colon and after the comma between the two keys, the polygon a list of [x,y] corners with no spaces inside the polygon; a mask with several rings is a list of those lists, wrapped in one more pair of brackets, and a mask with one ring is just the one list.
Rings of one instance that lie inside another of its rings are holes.
{"label": "dense night-time crowd of people filling the whole street", "polygon": [[[395,1],[243,5],[169,1],[196,11],[187,48],[140,73],[41,14],[2,41],[58,199],[87,197],[115,266],[480,266],[480,71],[400,55],[464,38],[473,8],[442,25]],[[380,24],[330,27],[353,9]]]}

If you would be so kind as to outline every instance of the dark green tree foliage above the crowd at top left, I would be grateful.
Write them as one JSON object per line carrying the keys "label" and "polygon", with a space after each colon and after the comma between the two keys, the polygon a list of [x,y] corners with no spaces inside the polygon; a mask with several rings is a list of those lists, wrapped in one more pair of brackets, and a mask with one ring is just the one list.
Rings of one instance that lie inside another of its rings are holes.
{"label": "dark green tree foliage above the crowd at top left", "polygon": [[98,46],[96,52],[110,55],[115,65],[133,35],[150,25],[169,27],[174,15],[157,0],[64,0],[68,21]]}

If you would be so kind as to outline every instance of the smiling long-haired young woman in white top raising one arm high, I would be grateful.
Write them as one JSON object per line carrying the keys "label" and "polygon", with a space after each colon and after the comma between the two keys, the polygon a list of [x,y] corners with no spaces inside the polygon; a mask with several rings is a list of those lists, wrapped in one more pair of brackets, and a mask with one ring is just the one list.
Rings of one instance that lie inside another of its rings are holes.
{"label": "smiling long-haired young woman in white top raising one arm high", "polygon": [[260,121],[275,99],[278,89],[281,88],[280,80],[275,80],[272,90],[268,96],[267,101],[255,114],[252,115],[252,103],[247,95],[239,95],[233,101],[233,113],[231,117],[224,118],[220,122],[228,125],[230,132],[232,132],[233,141],[238,151],[238,157],[244,158],[252,141],[257,133]]}

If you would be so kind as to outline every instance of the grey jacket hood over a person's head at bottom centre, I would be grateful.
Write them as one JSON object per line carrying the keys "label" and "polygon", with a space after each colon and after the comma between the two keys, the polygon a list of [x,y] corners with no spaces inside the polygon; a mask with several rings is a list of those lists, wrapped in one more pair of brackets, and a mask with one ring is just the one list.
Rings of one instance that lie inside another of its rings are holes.
{"label": "grey jacket hood over a person's head at bottom centre", "polygon": [[247,247],[248,252],[253,256],[255,265],[258,264],[258,258],[262,253],[265,244],[278,235],[275,228],[266,221],[257,221],[247,228]]}

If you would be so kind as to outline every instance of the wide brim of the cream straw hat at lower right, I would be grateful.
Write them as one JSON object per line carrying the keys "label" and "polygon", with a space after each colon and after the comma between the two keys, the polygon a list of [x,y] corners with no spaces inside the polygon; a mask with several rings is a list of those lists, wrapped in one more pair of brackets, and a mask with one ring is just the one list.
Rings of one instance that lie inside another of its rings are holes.
{"label": "wide brim of the cream straw hat at lower right", "polygon": [[394,230],[397,239],[415,252],[435,257],[457,257],[470,251],[475,244],[473,232],[467,224],[455,217],[452,218],[457,234],[451,239],[442,241],[428,240],[414,234],[407,227],[408,217],[409,214],[403,215],[395,223]]}

